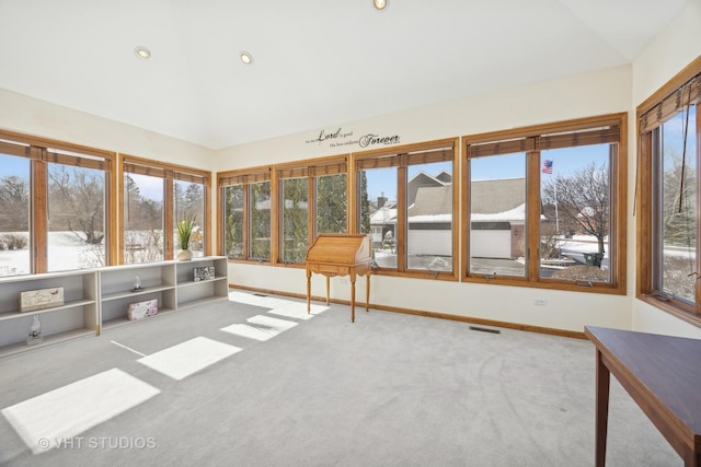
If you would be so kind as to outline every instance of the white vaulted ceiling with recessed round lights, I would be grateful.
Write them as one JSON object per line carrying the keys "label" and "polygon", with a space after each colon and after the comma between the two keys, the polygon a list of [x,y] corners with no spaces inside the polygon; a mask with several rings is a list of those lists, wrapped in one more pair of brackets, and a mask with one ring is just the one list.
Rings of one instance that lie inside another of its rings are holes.
{"label": "white vaulted ceiling with recessed round lights", "polygon": [[0,0],[0,87],[220,149],[630,63],[683,3]]}

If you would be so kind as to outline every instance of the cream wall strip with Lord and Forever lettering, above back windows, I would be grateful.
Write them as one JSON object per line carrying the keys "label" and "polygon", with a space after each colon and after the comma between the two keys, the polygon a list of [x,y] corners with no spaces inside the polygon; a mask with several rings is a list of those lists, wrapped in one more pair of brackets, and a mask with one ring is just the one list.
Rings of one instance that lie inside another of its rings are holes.
{"label": "cream wall strip with Lord and Forever lettering, above back windows", "polygon": [[464,97],[441,105],[379,116],[218,151],[216,171],[251,167],[363,151],[357,145],[330,148],[307,143],[320,130],[399,135],[400,144],[455,138],[513,127],[547,124],[631,108],[631,68],[545,81],[505,92]]}

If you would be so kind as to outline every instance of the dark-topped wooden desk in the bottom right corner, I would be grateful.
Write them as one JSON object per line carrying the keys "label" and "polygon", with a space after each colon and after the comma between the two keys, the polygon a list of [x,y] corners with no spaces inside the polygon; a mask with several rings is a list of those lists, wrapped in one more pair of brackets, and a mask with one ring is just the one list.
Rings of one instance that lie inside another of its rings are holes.
{"label": "dark-topped wooden desk in the bottom right corner", "polygon": [[606,465],[610,375],[686,466],[701,466],[701,340],[586,326],[596,346],[596,465]]}

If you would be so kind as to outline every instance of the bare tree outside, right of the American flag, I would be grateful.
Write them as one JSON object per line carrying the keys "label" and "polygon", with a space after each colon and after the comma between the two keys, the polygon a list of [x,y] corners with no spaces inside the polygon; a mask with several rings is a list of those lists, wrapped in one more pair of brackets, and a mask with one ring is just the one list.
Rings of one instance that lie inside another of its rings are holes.
{"label": "bare tree outside, right of the American flag", "polygon": [[543,184],[542,202],[558,205],[559,215],[585,234],[598,241],[604,254],[605,240],[610,229],[609,171],[595,163],[573,172],[558,175]]}

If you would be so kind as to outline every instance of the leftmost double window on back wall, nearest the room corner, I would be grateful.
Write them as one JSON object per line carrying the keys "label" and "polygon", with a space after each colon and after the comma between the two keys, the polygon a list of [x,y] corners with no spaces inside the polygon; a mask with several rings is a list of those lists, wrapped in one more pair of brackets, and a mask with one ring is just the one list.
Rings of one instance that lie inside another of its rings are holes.
{"label": "leftmost double window on back wall, nearest the room corner", "polygon": [[221,242],[230,259],[271,261],[271,170],[218,175]]}

